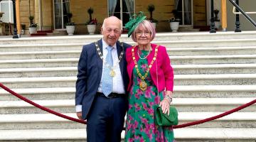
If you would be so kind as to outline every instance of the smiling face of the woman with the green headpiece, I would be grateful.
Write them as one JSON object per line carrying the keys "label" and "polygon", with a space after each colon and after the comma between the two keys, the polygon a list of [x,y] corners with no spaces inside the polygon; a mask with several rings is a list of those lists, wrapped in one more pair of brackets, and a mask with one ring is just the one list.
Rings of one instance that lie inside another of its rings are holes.
{"label": "smiling face of the woman with the green headpiece", "polygon": [[137,31],[135,31],[136,40],[139,45],[148,45],[151,42],[151,31],[140,26]]}

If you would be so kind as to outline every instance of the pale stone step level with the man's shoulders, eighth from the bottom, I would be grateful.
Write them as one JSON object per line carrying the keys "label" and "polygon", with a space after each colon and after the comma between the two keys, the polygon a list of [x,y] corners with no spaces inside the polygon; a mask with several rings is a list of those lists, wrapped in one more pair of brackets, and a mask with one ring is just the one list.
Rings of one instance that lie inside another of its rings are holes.
{"label": "pale stone step level with the man's shoulders, eighth from the bottom", "polygon": [[[38,47],[39,46],[39,47]],[[0,53],[0,60],[15,60],[15,59],[55,59],[55,58],[79,58],[82,50],[82,45],[38,45],[36,49],[27,51],[3,51]],[[46,46],[46,47],[45,47]],[[70,48],[71,46],[71,48]],[[31,48],[35,48],[31,45]],[[59,50],[60,48],[61,50]],[[75,49],[79,50],[75,50]],[[50,50],[54,49],[54,50]],[[57,50],[58,49],[58,50]],[[65,50],[64,50],[65,49]],[[1,48],[0,48],[1,50]],[[21,50],[21,47],[18,48]],[[24,49],[26,50],[26,49]],[[31,51],[35,50],[35,51]],[[168,48],[170,56],[183,55],[252,55],[256,54],[255,46],[248,47],[220,47],[220,48]]]}

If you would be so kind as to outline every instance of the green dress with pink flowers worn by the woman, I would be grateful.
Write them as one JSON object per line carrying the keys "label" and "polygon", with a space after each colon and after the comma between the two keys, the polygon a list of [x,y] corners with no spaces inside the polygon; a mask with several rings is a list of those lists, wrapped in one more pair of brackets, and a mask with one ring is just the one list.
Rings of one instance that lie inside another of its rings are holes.
{"label": "green dress with pink flowers worn by the woman", "polygon": [[[142,50],[142,58],[147,55],[146,50]],[[137,62],[139,72],[145,75],[148,68],[146,59],[139,59]],[[147,84],[143,92],[139,89],[141,79],[134,67],[133,84],[129,92],[129,109],[127,111],[125,141],[174,141],[174,131],[171,126],[162,127],[154,124],[154,108],[159,104],[159,97],[163,99],[163,92],[157,97],[157,89],[151,80],[150,74],[144,80]]]}

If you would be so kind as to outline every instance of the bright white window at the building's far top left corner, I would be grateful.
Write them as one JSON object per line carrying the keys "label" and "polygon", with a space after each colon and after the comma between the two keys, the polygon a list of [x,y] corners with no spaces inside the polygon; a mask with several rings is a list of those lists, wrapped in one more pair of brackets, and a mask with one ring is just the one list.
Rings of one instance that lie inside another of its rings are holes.
{"label": "bright white window at the building's far top left corner", "polygon": [[14,23],[14,11],[11,0],[2,0],[0,2],[0,11],[4,12],[1,21],[5,23]]}

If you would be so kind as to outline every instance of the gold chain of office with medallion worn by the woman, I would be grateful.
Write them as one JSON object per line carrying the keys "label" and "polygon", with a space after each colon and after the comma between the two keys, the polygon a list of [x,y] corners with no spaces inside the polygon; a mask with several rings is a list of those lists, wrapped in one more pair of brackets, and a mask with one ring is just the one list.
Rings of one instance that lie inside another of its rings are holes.
{"label": "gold chain of office with medallion worn by the woman", "polygon": [[[139,89],[141,89],[142,91],[145,91],[146,87],[147,87],[145,79],[146,79],[146,76],[149,74],[149,70],[151,69],[154,61],[156,60],[156,55],[157,55],[157,52],[158,52],[159,45],[156,46],[155,53],[154,53],[154,58],[153,58],[153,60],[151,60],[150,65],[147,68],[146,73],[145,73],[144,76],[142,76],[142,74],[139,72],[138,64],[137,64],[137,61],[136,61],[135,55],[134,55],[134,48],[135,48],[135,46],[132,47],[132,60],[134,60],[135,68],[136,68],[137,73],[138,73],[138,75],[141,79],[141,82],[139,82]],[[139,50],[139,47],[138,47],[138,50]]]}

